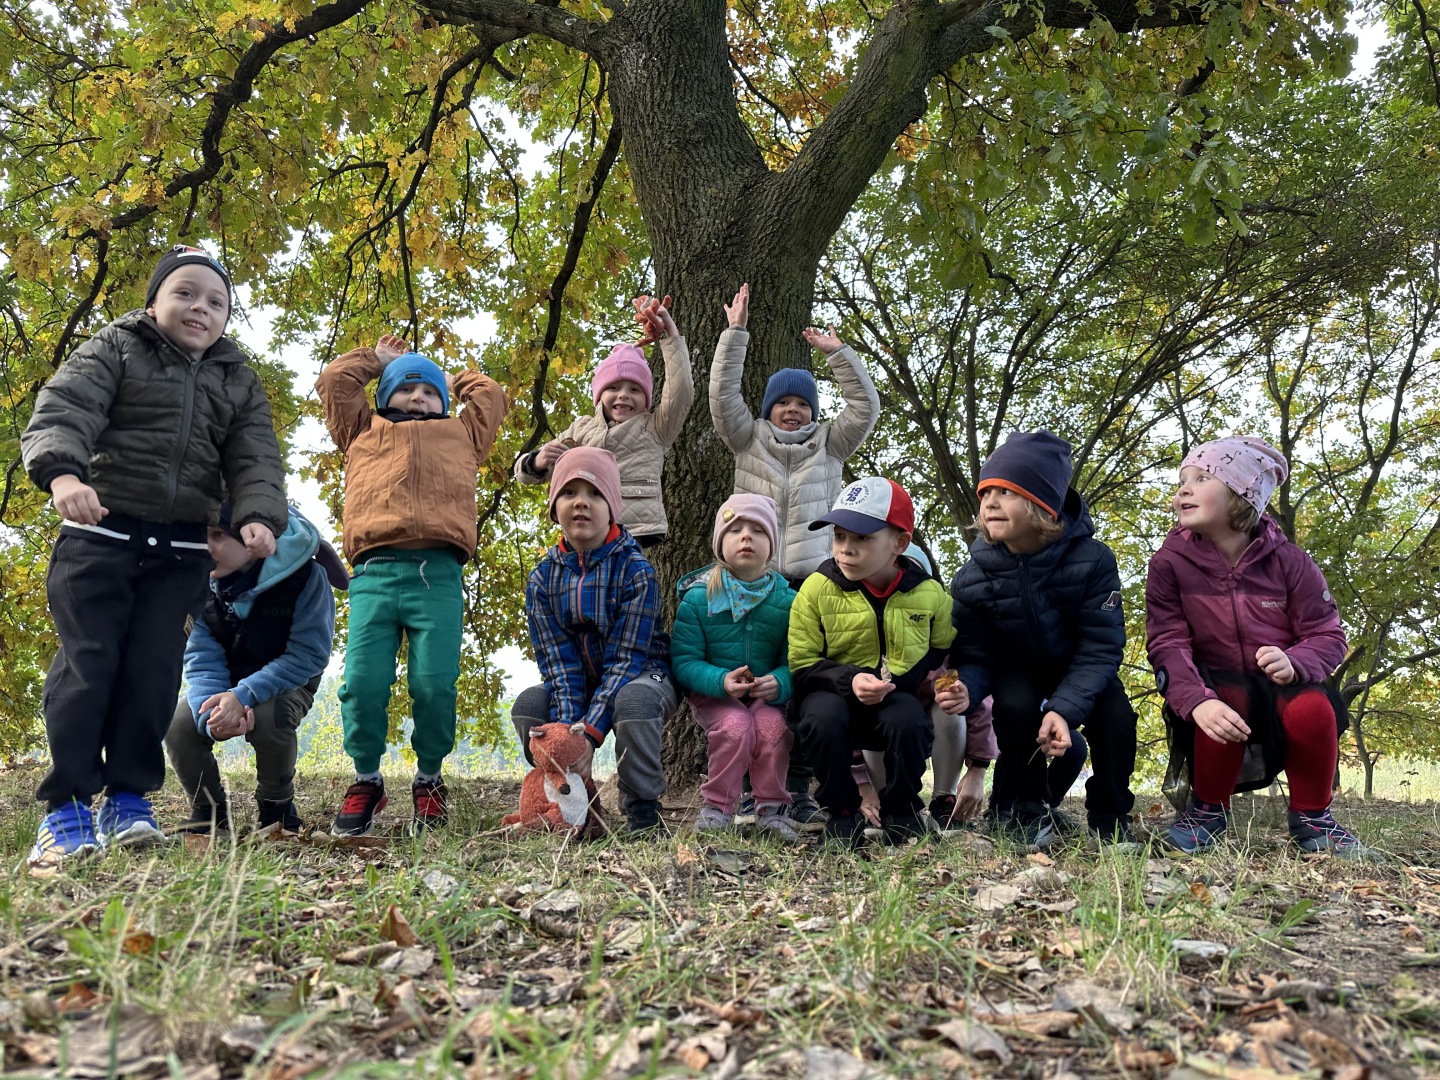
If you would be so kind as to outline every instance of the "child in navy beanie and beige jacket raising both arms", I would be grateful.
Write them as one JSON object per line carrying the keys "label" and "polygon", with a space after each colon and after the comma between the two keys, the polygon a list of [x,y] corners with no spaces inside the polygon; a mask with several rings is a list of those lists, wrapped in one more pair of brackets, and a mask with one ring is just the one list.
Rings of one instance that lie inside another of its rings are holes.
{"label": "child in navy beanie and beige jacket raising both arms", "polygon": [[[829,557],[828,531],[811,528],[840,494],[845,461],[860,449],[880,418],[880,395],[855,350],[835,334],[809,327],[805,340],[821,353],[840,383],[845,408],[834,420],[819,419],[815,376],[783,367],[765,384],[760,415],[753,416],[740,392],[750,346],[750,287],[742,285],[726,305],[730,328],[720,334],[710,367],[710,420],[734,454],[736,494],[769,495],[778,507],[775,567],[789,583],[801,583]],[[811,798],[815,770],[796,746],[786,788],[792,816],[818,825],[824,815]]]}

